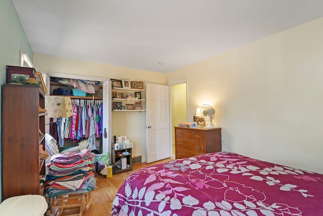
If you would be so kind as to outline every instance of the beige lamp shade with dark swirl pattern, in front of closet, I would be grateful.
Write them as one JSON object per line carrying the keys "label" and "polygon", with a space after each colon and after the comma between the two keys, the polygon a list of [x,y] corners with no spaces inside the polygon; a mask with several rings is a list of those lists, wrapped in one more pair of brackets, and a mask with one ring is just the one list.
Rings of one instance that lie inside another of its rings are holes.
{"label": "beige lamp shade with dark swirl pattern, in front of closet", "polygon": [[45,96],[46,117],[67,118],[73,115],[71,98]]}

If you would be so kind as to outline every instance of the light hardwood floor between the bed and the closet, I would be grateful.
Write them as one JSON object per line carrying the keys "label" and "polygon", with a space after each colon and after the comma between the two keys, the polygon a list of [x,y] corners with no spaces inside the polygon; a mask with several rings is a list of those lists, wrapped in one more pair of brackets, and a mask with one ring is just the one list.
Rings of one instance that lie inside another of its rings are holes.
{"label": "light hardwood floor between the bed and the closet", "polygon": [[[132,171],[123,172],[118,175],[114,175],[110,179],[106,179],[105,176],[99,176],[97,172],[95,172],[95,177],[98,179],[96,182],[97,190],[92,191],[92,203],[88,210],[83,212],[83,216],[109,216],[111,215],[112,203],[113,200],[126,178],[129,177],[134,171],[146,167],[151,166],[157,163],[163,163],[167,161],[173,160],[172,158],[167,158],[164,160],[159,160],[153,163],[135,163],[132,166]],[[70,202],[70,201],[68,201]],[[68,209],[65,210],[62,214],[69,215],[78,213],[77,209]]]}

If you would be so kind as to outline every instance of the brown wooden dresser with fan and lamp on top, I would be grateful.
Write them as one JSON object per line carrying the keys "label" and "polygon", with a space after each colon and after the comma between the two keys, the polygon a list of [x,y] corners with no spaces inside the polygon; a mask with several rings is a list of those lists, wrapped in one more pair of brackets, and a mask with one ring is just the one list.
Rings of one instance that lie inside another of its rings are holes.
{"label": "brown wooden dresser with fan and lamp on top", "polygon": [[175,127],[175,158],[221,151],[221,127]]}

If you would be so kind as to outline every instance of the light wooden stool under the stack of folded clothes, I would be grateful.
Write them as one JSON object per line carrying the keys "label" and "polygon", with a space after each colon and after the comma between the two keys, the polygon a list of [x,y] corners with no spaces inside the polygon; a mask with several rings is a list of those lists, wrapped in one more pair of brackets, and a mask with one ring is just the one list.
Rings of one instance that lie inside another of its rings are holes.
{"label": "light wooden stool under the stack of folded clothes", "polygon": [[[50,210],[51,213],[55,213],[56,210],[58,210],[57,215],[62,215],[65,209],[69,208],[79,208],[79,213],[77,214],[69,214],[68,216],[82,216],[84,210],[88,210],[91,202],[92,202],[92,191],[73,191],[69,193],[65,193],[62,195],[58,195],[56,197],[53,197],[50,199]],[[68,195],[68,197],[64,197]],[[76,204],[67,204],[64,203],[64,200],[70,200],[70,199],[78,199],[78,202]]]}

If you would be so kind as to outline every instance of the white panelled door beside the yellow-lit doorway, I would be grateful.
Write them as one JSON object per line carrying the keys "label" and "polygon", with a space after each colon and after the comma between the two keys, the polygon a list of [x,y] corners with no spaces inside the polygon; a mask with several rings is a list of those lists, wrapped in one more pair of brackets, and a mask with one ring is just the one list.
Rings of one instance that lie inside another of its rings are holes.
{"label": "white panelled door beside the yellow-lit doorway", "polygon": [[169,86],[147,83],[147,163],[170,157],[169,108]]}

